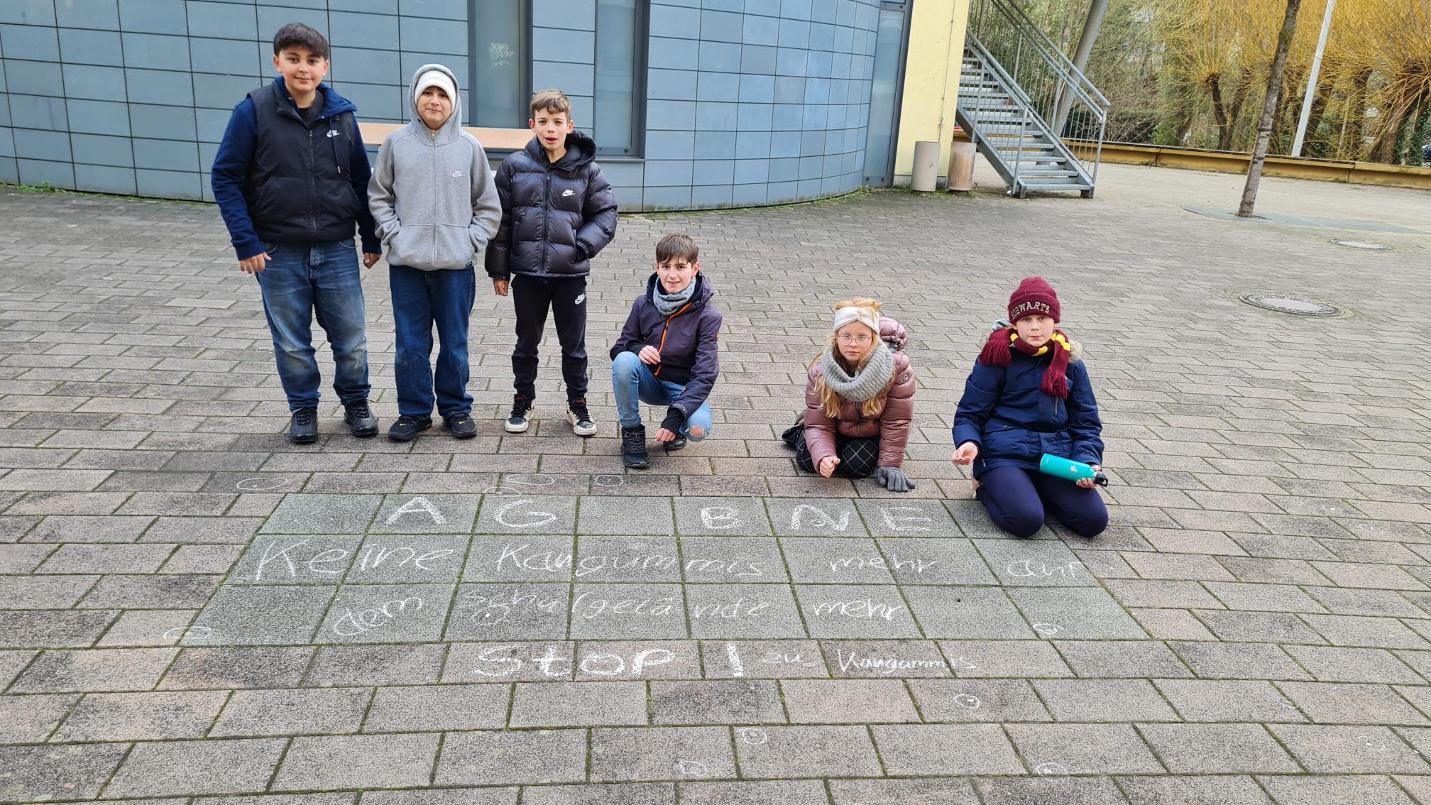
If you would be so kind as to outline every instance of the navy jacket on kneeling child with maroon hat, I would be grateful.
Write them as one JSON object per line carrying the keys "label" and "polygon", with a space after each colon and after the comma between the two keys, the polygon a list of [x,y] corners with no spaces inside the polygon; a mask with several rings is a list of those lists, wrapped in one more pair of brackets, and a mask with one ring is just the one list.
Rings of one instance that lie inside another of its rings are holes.
{"label": "navy jacket on kneeling child with maroon hat", "polygon": [[954,413],[954,445],[979,445],[975,477],[995,467],[1037,470],[1045,453],[1102,466],[1103,423],[1083,361],[1069,361],[1063,400],[1039,388],[1050,355],[1012,352],[1007,367],[975,364]]}

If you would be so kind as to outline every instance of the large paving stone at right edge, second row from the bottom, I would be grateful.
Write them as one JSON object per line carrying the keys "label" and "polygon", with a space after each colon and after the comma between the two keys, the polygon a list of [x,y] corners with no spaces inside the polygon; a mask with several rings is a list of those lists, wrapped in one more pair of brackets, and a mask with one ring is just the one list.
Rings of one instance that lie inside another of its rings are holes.
{"label": "large paving stone at right edge, second row from the bottom", "polygon": [[1415,749],[1384,726],[1271,725],[1292,755],[1314,773],[1427,773]]}

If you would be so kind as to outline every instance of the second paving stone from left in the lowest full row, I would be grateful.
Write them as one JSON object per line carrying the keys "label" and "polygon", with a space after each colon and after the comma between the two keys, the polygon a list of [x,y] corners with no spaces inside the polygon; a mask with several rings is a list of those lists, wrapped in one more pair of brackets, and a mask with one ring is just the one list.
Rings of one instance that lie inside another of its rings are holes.
{"label": "second paving stone from left in the lowest full row", "polygon": [[283,753],[282,738],[137,743],[106,796],[256,794]]}

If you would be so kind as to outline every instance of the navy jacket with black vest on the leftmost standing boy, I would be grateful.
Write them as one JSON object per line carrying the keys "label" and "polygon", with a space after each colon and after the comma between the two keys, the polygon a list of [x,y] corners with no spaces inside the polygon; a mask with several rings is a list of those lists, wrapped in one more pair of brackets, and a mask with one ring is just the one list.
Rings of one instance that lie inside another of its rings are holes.
{"label": "navy jacket with black vest on the leftmost standing boy", "polygon": [[249,93],[229,117],[213,158],[213,198],[239,259],[263,244],[346,241],[353,225],[363,252],[381,252],[368,211],[368,152],[358,107],[326,85],[309,129],[279,76]]}

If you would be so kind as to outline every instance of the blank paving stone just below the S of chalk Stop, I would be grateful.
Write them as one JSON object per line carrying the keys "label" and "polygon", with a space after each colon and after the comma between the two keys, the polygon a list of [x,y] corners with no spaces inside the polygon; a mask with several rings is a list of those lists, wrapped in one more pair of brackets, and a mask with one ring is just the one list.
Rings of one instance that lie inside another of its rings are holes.
{"label": "blank paving stone just below the S of chalk Stop", "polygon": [[379,688],[362,729],[363,732],[501,729],[507,723],[508,695],[507,685]]}

